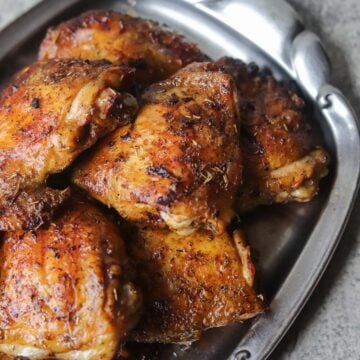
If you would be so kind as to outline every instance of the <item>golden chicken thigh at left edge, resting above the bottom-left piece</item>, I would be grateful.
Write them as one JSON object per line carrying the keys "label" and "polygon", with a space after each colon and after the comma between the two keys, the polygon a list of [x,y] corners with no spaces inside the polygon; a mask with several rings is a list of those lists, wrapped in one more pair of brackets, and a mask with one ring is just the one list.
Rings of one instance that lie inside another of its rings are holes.
{"label": "golden chicken thigh at left edge, resting above the bottom-left piece", "polygon": [[49,60],[12,79],[0,97],[0,230],[31,229],[68,196],[46,187],[100,137],[133,117],[136,100],[117,92],[130,69]]}

